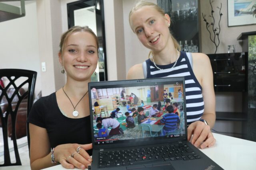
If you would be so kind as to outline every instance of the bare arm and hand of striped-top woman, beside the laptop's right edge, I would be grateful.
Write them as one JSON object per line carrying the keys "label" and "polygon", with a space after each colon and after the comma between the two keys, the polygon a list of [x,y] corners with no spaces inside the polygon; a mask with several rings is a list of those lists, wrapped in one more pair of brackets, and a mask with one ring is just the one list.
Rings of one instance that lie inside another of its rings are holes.
{"label": "bare arm and hand of striped-top woman, beside the laptop's right edge", "polygon": [[196,147],[211,147],[215,144],[211,128],[214,127],[216,113],[215,113],[215,94],[213,88],[213,74],[210,59],[207,55],[202,53],[193,53],[193,68],[194,74],[202,86],[202,95],[204,99],[204,113],[202,119],[208,123],[195,121],[188,127],[188,140]]}

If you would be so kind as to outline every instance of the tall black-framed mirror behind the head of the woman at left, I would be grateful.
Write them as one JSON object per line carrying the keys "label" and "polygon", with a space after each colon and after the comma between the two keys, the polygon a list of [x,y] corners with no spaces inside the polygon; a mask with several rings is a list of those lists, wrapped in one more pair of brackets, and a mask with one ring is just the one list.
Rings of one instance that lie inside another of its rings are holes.
{"label": "tall black-framed mirror behind the head of the woman at left", "polygon": [[99,40],[99,60],[91,81],[107,81],[107,60],[104,26],[103,0],[80,0],[67,4],[68,28],[74,25],[87,25],[94,31]]}

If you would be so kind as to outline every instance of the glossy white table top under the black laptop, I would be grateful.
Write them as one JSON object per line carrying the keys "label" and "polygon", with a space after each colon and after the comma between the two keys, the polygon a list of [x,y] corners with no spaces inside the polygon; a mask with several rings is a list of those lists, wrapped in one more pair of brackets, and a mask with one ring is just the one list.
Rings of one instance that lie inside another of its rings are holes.
{"label": "glossy white table top under the black laptop", "polygon": [[[224,170],[256,170],[256,142],[214,133],[216,144],[200,149]],[[78,169],[78,168],[75,168]],[[66,170],[62,165],[45,170]]]}

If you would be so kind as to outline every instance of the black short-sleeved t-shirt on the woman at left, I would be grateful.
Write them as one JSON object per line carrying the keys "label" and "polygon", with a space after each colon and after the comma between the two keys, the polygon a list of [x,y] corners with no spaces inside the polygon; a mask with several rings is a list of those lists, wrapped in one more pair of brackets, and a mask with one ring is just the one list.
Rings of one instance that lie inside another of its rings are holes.
{"label": "black short-sleeved t-shirt on the woman at left", "polygon": [[[92,143],[90,116],[78,119],[64,116],[58,107],[55,93],[34,103],[28,122],[46,129],[51,148],[66,143]],[[92,155],[92,150],[87,152]]]}

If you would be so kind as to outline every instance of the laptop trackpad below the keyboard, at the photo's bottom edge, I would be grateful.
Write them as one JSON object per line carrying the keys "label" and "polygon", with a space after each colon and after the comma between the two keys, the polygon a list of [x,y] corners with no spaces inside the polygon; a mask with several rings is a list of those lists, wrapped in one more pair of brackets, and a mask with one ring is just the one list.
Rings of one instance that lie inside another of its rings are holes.
{"label": "laptop trackpad below the keyboard, at the photo's bottom edge", "polygon": [[134,165],[126,166],[127,170],[175,170],[175,168],[168,162],[161,162],[156,164]]}

